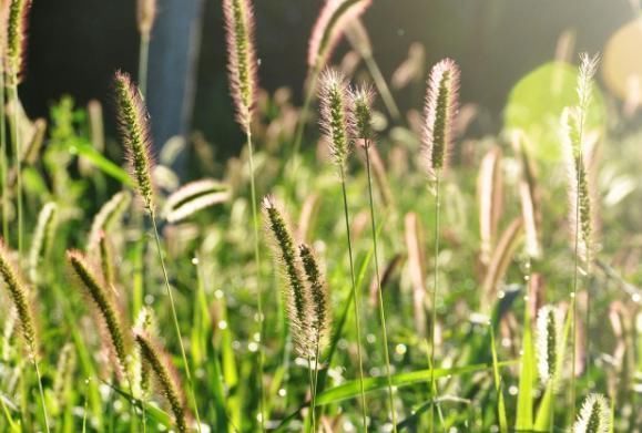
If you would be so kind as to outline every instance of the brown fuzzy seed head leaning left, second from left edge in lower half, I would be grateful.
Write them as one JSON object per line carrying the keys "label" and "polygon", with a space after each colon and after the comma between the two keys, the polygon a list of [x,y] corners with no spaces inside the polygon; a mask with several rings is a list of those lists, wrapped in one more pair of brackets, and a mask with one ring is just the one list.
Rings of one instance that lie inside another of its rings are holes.
{"label": "brown fuzzy seed head leaning left, second from left edge in lower half", "polygon": [[120,315],[114,306],[103,281],[96,277],[82,252],[68,250],[67,259],[78,277],[82,288],[93,301],[103,324],[110,336],[116,360],[119,362],[119,373],[128,371],[128,343],[121,324]]}

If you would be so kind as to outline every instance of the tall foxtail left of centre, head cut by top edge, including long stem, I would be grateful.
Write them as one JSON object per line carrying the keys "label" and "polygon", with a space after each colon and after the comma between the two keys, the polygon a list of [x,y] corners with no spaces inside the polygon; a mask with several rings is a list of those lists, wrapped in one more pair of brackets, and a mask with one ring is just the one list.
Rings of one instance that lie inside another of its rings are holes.
{"label": "tall foxtail left of centre, head cut by top edge, including long stem", "polygon": [[256,307],[258,310],[258,411],[261,430],[265,431],[265,390],[264,373],[264,313],[263,290],[261,287],[261,247],[258,235],[258,212],[256,178],[254,171],[254,145],[252,141],[252,120],[258,89],[256,49],[254,44],[254,9],[251,0],[224,0],[225,34],[227,44],[227,73],[230,89],[236,110],[236,122],[245,133],[249,165],[249,199],[252,202],[252,224],[254,228],[254,264],[256,266]]}

